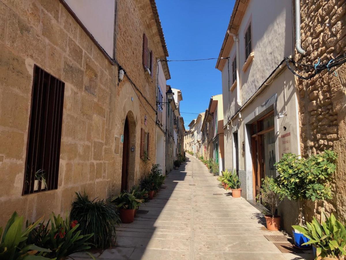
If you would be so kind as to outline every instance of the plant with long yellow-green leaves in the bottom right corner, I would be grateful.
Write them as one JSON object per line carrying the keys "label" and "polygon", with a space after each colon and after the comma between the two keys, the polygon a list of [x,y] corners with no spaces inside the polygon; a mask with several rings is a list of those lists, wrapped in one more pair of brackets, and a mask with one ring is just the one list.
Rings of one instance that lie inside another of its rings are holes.
{"label": "plant with long yellow-green leaves in the bottom right corner", "polygon": [[309,239],[303,245],[313,245],[316,248],[315,259],[345,259],[346,226],[336,220],[333,213],[321,224],[314,217],[312,222],[307,223],[307,227],[297,225],[292,227]]}

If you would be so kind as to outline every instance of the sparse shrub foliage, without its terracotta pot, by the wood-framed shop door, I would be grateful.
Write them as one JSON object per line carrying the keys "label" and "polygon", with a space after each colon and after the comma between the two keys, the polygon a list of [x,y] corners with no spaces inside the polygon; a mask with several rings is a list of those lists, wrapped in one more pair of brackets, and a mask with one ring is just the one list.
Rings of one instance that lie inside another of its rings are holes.
{"label": "sparse shrub foliage, without its terracotta pot, by the wood-framed shop door", "polygon": [[280,204],[283,198],[276,193],[277,184],[272,177],[266,176],[265,179],[262,179],[262,181],[263,183],[260,194],[257,195],[256,199],[258,202],[261,202],[260,200],[262,200],[263,205],[269,208],[267,214],[270,214],[271,217],[273,217],[275,215],[277,206]]}

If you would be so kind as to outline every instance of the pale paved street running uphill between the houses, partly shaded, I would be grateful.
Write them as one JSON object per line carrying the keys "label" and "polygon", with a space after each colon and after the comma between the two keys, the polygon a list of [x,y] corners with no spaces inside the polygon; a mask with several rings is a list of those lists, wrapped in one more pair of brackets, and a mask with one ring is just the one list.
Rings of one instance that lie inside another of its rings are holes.
{"label": "pale paved street running uphill between the houses, partly shaded", "polygon": [[310,251],[281,253],[265,235],[282,241],[283,233],[267,231],[260,211],[232,198],[193,156],[164,188],[140,207],[134,223],[121,224],[118,246],[95,254],[98,259],[312,259]]}

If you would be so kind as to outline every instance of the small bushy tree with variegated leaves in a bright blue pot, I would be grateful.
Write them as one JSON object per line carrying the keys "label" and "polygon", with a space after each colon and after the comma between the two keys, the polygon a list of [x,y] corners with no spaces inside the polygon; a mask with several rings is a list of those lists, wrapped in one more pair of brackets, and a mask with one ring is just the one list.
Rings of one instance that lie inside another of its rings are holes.
{"label": "small bushy tree with variegated leaves in a bright blue pot", "polygon": [[[335,172],[337,154],[325,150],[321,154],[311,155],[308,158],[299,158],[295,154],[284,154],[282,159],[275,163],[277,192],[289,200],[299,201],[299,225],[303,226],[304,201],[319,201],[322,203],[321,219],[324,218],[324,200],[331,199],[331,179]],[[293,230],[294,245],[301,249],[310,248],[308,238],[299,230]],[[304,245],[303,245],[304,244]]]}

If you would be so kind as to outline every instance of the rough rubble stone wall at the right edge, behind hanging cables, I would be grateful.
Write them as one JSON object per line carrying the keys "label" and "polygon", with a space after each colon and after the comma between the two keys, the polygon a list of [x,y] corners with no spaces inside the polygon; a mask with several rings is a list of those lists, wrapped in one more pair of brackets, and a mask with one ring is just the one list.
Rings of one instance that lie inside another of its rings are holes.
{"label": "rough rubble stone wall at the right edge, behind hanging cables", "polygon": [[[346,2],[301,1],[301,40],[306,55],[295,60],[328,62],[346,51]],[[336,71],[337,76],[331,72]],[[311,80],[298,80],[300,93],[301,153],[303,156],[333,149],[339,154],[335,197],[325,203],[327,212],[346,217],[346,64],[322,71]],[[320,214],[320,205],[308,203],[306,214]]]}

